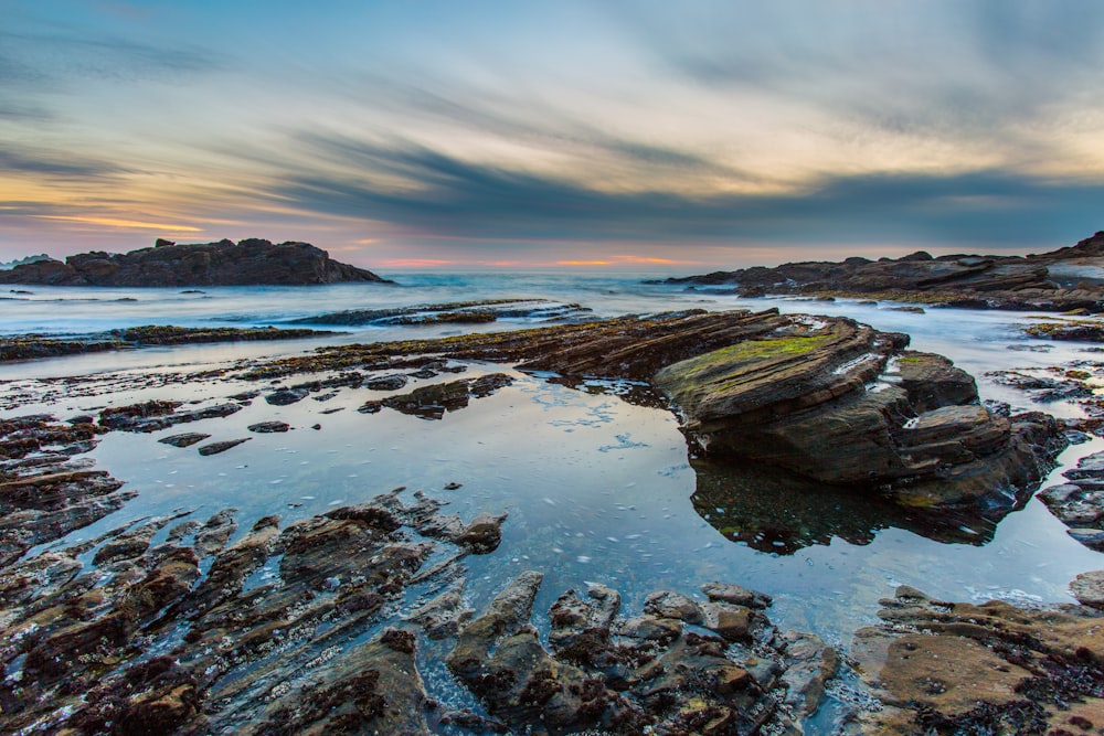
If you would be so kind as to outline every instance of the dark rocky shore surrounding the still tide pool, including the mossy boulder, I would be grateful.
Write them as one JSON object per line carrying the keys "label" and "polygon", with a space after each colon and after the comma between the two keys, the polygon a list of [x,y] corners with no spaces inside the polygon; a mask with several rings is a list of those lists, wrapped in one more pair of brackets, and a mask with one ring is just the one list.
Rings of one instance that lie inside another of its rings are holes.
{"label": "dark rocky shore surrounding the still tide pool, including the mossy boulder", "polygon": [[[438,420],[512,381],[448,375],[471,361],[554,372],[566,385],[637,382],[639,395],[626,401],[667,403],[721,476],[726,465],[774,466],[809,493],[846,489],[943,533],[970,518],[995,522],[1053,466],[1065,427],[983,406],[969,375],[906,346],[905,335],[842,318],[688,311],[322,348],[208,373],[214,386],[244,380],[257,388],[195,405],[147,401],[66,422],[2,420],[0,726],[796,734],[838,686],[841,665],[881,703],[853,708],[853,733],[1104,725],[1094,711],[1104,651],[1091,636],[1100,616],[1091,605],[1028,611],[902,589],[880,615],[884,627],[857,633],[851,655],[775,627],[769,597],[740,580],[700,580],[699,598],[658,590],[625,611],[616,590],[591,585],[563,591],[544,618],[534,611],[541,570],[528,570],[470,610],[465,559],[493,555],[510,519],[482,510],[465,521],[443,500],[402,488],[287,524],[272,509],[247,531],[232,508],[200,518],[180,508],[56,544],[135,495],[86,457],[106,433],[172,430],[159,437],[172,452],[240,452],[232,448],[248,437],[208,442],[208,433],[173,428],[221,422],[253,402],[280,407],[365,388],[389,393],[363,402],[363,414]],[[411,390],[412,378],[427,383]],[[699,486],[699,500],[707,493]],[[914,671],[912,651],[938,661]],[[427,659],[445,663],[471,706],[428,695]]]}

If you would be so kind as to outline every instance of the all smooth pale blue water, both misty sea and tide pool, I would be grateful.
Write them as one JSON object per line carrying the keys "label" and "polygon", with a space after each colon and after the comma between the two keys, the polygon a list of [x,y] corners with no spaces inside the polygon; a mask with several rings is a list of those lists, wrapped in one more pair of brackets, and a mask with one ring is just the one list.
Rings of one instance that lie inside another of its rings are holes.
{"label": "all smooth pale blue water, both misty sea and tide pool", "polygon": [[[404,286],[206,288],[201,295],[179,289],[33,287],[31,295],[10,295],[17,298],[0,301],[0,333],[81,333],[147,323],[279,324],[341,309],[502,297],[578,302],[603,317],[694,307],[775,307],[784,312],[846,314],[882,330],[907,332],[915,349],[946,354],[979,376],[984,397],[1060,415],[1073,415],[1075,407],[1036,405],[1023,394],[981,376],[997,369],[1045,367],[1096,356],[1087,352],[1087,345],[1022,337],[1016,327],[1028,318],[1015,313],[933,309],[915,314],[849,300],[741,300],[641,285],[639,277],[629,275],[400,278]],[[523,326],[529,323],[513,320],[480,329]],[[318,344],[468,330],[457,326],[367,328],[322,340],[181,346],[8,364],[0,366],[0,405],[4,406],[0,416],[47,410],[65,418],[153,397],[217,401],[263,386],[244,382],[162,385],[157,376]],[[1022,350],[1032,346],[1040,351]],[[473,365],[466,375],[502,370]],[[87,374],[95,377],[62,381]],[[694,595],[700,584],[720,579],[773,595],[772,618],[781,626],[813,630],[845,646],[857,627],[875,620],[878,599],[891,596],[901,584],[952,600],[1066,601],[1071,600],[1066,585],[1078,573],[1104,567],[1104,557],[1073,542],[1065,527],[1033,499],[995,530],[930,530],[902,519],[893,509],[847,494],[829,494],[809,503],[807,495],[787,494],[786,488],[772,490],[776,479],[756,482],[747,474],[741,477],[746,482],[740,491],[739,482],[728,487],[724,473],[718,481],[715,473],[703,468],[699,481],[669,412],[623,401],[616,394],[624,386],[616,384],[592,383],[580,390],[559,385],[549,376],[514,375],[512,386],[473,401],[439,422],[391,410],[359,414],[357,406],[382,393],[342,388],[327,402],[306,399],[274,407],[258,399],[225,419],[151,435],[110,433],[93,456],[99,467],[140,491],[140,497],[55,544],[177,509],[193,510],[202,520],[224,506],[237,508],[240,533],[244,533],[261,515],[280,513],[286,524],[405,486],[406,493],[423,489],[448,500],[450,509],[465,519],[481,511],[510,514],[498,551],[464,563],[474,608],[481,609],[526,569],[545,573],[535,608],[541,626],[545,623],[541,617],[561,593],[585,588],[588,582],[620,590],[626,607],[635,610],[652,590]],[[323,414],[336,408],[341,410]],[[246,430],[250,424],[276,418],[295,429],[285,435]],[[321,428],[311,429],[315,424]],[[210,433],[212,440],[252,439],[209,458],[199,457],[194,448],[157,441],[183,430]],[[1063,461],[1072,465],[1102,448],[1100,440],[1071,448]],[[463,486],[444,490],[449,482]],[[817,503],[822,506],[818,509]],[[719,531],[732,535],[734,525],[767,527],[787,520],[794,527],[787,530],[790,542],[797,540],[793,544],[772,542],[768,533],[749,540],[750,544],[736,543]]]}

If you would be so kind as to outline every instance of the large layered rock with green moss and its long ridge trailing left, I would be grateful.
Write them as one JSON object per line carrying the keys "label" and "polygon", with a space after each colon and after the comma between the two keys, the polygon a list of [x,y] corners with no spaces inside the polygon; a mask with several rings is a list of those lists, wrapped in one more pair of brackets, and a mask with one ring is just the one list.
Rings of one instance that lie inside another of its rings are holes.
{"label": "large layered rock with green moss and its long ridge trailing left", "polygon": [[915,506],[1015,506],[1064,444],[1057,423],[978,403],[974,380],[907,335],[846,318],[689,311],[444,340],[346,345],[250,377],[382,370],[395,356],[507,361],[564,376],[647,381],[715,458],[820,483],[892,491]]}

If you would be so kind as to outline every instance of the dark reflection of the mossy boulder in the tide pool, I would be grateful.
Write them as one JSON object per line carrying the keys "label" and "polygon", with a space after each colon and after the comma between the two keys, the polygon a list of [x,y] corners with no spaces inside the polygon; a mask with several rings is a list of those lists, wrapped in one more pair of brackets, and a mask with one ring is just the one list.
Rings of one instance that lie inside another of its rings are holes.
{"label": "dark reflection of the mossy boulder in the tide pool", "polygon": [[[716,531],[761,552],[792,555],[839,537],[857,545],[898,527],[947,544],[992,541],[1010,510],[914,510],[873,491],[826,486],[753,463],[691,459],[698,476],[694,510]],[[1026,499],[1020,499],[1020,508]]]}

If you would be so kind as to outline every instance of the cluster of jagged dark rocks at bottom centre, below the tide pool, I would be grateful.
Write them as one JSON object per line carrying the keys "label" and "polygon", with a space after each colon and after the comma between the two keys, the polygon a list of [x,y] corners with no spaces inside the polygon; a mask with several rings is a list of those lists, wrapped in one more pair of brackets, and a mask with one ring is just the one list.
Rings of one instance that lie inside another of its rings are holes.
{"label": "cluster of jagged dark rocks at bottom centre, below the tide pool", "polygon": [[569,590],[549,611],[545,648],[530,625],[541,579],[519,576],[460,629],[447,658],[513,733],[797,733],[836,672],[819,639],[771,625],[764,596],[718,584],[704,588],[709,602],[658,593],[629,618],[618,617],[615,590]]}

